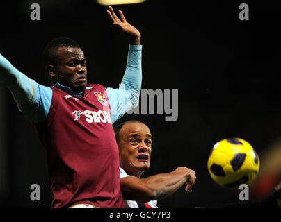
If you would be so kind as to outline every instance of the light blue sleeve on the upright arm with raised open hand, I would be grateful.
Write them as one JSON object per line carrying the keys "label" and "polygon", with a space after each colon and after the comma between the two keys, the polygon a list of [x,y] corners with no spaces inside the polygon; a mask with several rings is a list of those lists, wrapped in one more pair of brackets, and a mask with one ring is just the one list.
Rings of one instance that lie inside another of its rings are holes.
{"label": "light blue sleeve on the upright arm with raised open hand", "polygon": [[141,45],[129,46],[127,67],[119,88],[106,88],[112,123],[138,106],[142,81],[141,51]]}

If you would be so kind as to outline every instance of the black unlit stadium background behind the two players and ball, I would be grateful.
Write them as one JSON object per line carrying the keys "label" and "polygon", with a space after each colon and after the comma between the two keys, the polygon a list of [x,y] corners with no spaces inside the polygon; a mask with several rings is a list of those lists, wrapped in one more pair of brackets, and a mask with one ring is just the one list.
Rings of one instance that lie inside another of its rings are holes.
{"label": "black unlit stadium background behind the two players and ball", "polygon": [[[58,2],[1,1],[1,54],[49,85],[42,50],[54,37],[71,37],[86,54],[88,82],[118,87],[128,43],[111,26],[106,6],[94,0]],[[280,8],[269,1],[251,2],[250,21],[242,22],[239,4],[246,1],[196,2],[147,0],[113,7],[142,33],[142,88],[179,90],[177,121],[165,122],[165,114],[121,119],[138,119],[152,130],[151,169],[144,176],[179,166],[197,173],[193,194],[182,187],[160,200],[159,207],[218,207],[238,201],[239,191],[223,189],[209,176],[212,146],[241,137],[262,157],[281,135]],[[40,21],[31,21],[31,3],[40,4]],[[0,90],[0,207],[49,207],[45,150],[8,89],[0,85]],[[38,202],[29,198],[32,184],[41,187]]]}

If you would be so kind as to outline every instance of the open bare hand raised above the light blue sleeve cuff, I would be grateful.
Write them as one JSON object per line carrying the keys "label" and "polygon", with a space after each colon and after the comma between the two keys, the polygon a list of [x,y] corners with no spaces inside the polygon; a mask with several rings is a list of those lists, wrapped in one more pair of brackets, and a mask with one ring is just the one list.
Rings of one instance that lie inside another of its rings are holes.
{"label": "open bare hand raised above the light blue sleeve cuff", "polygon": [[118,10],[120,19],[117,15],[115,15],[115,12],[111,6],[109,6],[109,10],[107,10],[106,12],[109,17],[111,17],[113,25],[118,26],[122,33],[125,33],[125,35],[127,35],[130,44],[140,44],[140,32],[138,31],[138,29],[136,29],[126,21],[125,16],[123,15],[121,10]]}

